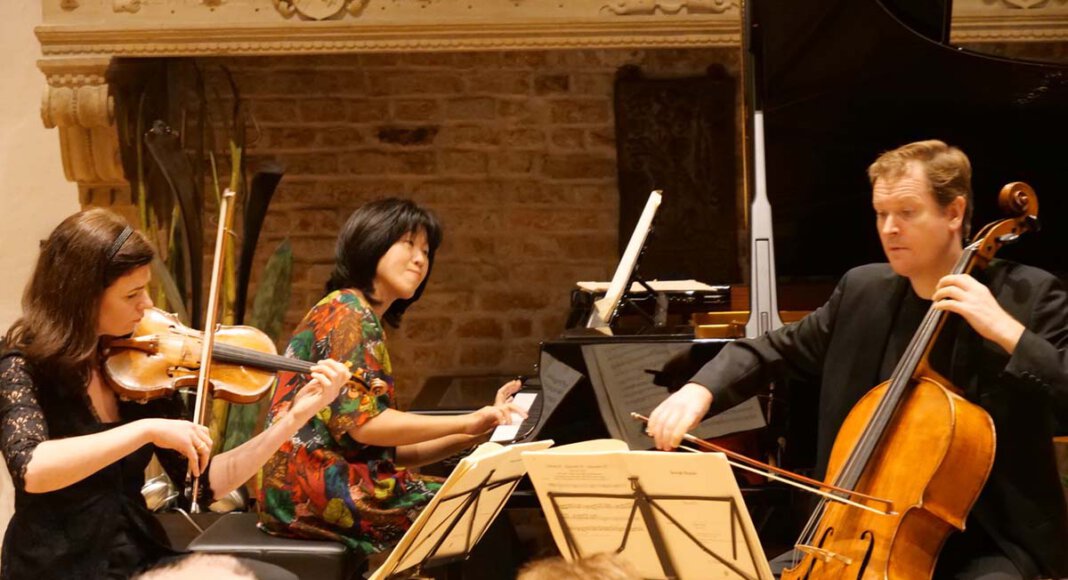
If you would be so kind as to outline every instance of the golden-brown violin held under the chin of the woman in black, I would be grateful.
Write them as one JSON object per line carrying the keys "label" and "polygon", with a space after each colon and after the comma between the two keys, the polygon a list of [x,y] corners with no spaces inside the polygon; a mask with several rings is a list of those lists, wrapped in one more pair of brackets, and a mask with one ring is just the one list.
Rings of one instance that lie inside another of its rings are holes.
{"label": "golden-brown violin held under the chin of the woman in black", "polygon": [[[104,344],[104,378],[125,399],[150,401],[192,389],[202,369],[204,333],[174,314],[152,308],[126,338]],[[266,333],[251,326],[220,326],[208,374],[216,398],[255,403],[270,392],[278,371],[309,374],[313,363],[278,355]],[[362,370],[352,382],[365,385]]]}

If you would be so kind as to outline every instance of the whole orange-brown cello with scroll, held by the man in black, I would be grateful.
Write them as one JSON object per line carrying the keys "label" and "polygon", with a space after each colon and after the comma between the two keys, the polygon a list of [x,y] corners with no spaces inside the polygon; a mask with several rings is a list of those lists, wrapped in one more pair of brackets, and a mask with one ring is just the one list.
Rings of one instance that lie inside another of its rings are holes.
{"label": "whole orange-brown cello with scroll, held by the man in black", "polygon": [[[1010,217],[984,228],[951,273],[985,266],[1037,229],[1038,199],[1026,184],[1006,185],[999,205]],[[803,555],[782,578],[930,578],[946,537],[964,529],[993,466],[995,434],[990,416],[931,369],[944,325],[945,312],[932,307],[891,378],[853,406],[831,451],[829,486],[885,498],[892,510],[821,499],[796,546]]]}

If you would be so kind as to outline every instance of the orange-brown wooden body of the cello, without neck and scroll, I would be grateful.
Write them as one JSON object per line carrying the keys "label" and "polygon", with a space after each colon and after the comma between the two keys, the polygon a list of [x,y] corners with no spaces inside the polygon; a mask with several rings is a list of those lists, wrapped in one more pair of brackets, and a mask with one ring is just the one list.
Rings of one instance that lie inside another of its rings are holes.
{"label": "orange-brown wooden body of the cello, without neck and scroll", "polygon": [[[869,391],[838,432],[828,480],[838,477],[890,383]],[[892,515],[830,503],[815,546],[783,579],[930,578],[949,533],[964,519],[994,459],[993,421],[979,406],[933,378],[914,380],[855,489],[893,501]]]}

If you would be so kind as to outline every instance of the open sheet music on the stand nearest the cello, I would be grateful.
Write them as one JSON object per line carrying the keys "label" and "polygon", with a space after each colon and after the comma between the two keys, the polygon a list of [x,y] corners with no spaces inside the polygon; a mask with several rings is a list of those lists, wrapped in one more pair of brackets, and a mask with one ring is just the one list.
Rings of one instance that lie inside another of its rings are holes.
{"label": "open sheet music on the stand nearest the cello", "polygon": [[618,552],[643,578],[772,578],[722,454],[629,451],[600,439],[522,459],[569,561]]}

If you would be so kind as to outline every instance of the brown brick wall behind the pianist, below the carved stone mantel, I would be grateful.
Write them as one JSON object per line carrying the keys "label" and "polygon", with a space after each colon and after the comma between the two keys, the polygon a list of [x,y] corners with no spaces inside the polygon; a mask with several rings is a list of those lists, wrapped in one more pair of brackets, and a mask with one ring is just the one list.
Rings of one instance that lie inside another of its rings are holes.
{"label": "brown brick wall behind the pianist, below the carved stone mantel", "polygon": [[[250,162],[287,168],[251,287],[288,237],[286,334],[320,297],[336,233],[360,204],[408,197],[444,223],[422,300],[389,333],[402,405],[435,375],[530,374],[538,342],[563,330],[575,282],[611,276],[618,67],[737,75],[736,51],[723,49],[264,57],[201,61],[209,95],[229,92],[220,64],[254,117]],[[192,77],[179,77],[191,107]]]}

